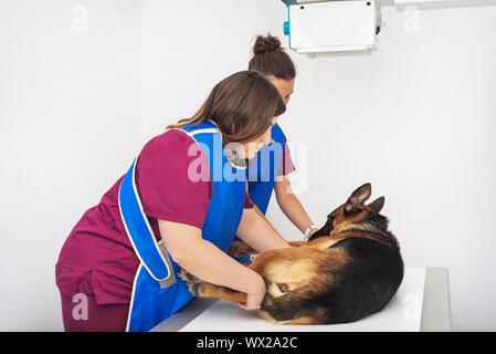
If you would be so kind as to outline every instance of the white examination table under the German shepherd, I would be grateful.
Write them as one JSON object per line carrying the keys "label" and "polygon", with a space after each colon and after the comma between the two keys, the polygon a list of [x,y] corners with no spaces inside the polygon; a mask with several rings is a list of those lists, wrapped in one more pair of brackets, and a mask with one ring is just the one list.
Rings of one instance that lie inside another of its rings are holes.
{"label": "white examination table under the German shepherd", "polygon": [[155,326],[152,332],[389,332],[451,331],[446,268],[405,267],[403,282],[390,303],[361,321],[329,325],[276,325],[255,311],[218,299],[197,298]]}

